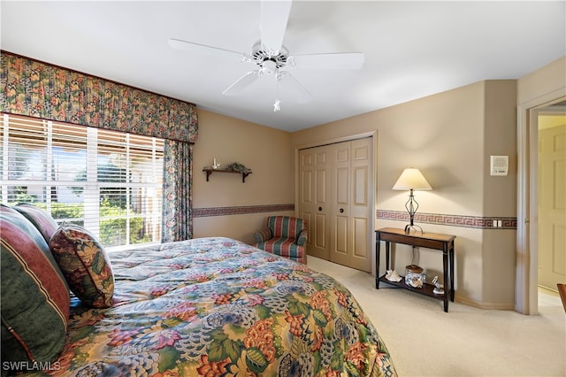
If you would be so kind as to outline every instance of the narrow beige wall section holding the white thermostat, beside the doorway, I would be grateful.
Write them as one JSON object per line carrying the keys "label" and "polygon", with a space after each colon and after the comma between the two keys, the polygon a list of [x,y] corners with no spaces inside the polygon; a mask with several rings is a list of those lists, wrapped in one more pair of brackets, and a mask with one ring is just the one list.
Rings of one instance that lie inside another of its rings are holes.
{"label": "narrow beige wall section holding the white thermostat, beside the doorway", "polygon": [[[516,217],[516,81],[487,81],[484,135],[484,217]],[[490,156],[509,156],[506,177],[490,175]],[[516,230],[483,232],[482,305],[515,306]]]}

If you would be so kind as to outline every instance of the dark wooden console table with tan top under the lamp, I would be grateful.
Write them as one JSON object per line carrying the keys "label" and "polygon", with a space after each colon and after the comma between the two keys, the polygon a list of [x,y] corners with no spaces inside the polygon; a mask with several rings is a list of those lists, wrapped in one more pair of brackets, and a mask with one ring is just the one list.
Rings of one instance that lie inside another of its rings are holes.
{"label": "dark wooden console table with tan top under the lamp", "polygon": [[[394,285],[402,289],[420,293],[424,296],[431,296],[444,301],[444,312],[448,312],[448,299],[454,302],[454,240],[455,235],[441,235],[438,233],[410,233],[405,234],[403,229],[394,227],[384,227],[375,231],[375,250],[377,253],[375,266],[377,277],[375,288],[379,289],[379,281]],[[391,270],[391,242],[402,243],[414,247],[422,247],[432,250],[442,251],[442,264],[444,273],[444,294],[433,293],[434,285],[424,283],[423,288],[413,288],[405,284],[405,279],[399,282],[388,281],[386,273],[379,276],[379,254],[381,241],[386,242],[386,270]]]}

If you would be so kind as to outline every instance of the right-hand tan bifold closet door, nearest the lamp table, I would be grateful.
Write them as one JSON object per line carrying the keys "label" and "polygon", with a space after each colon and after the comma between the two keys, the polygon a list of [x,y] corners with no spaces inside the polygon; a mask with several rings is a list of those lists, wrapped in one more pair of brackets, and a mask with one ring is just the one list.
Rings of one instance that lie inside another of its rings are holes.
{"label": "right-hand tan bifold closet door, nearest the lamp table", "polygon": [[331,146],[330,260],[371,272],[371,138]]}

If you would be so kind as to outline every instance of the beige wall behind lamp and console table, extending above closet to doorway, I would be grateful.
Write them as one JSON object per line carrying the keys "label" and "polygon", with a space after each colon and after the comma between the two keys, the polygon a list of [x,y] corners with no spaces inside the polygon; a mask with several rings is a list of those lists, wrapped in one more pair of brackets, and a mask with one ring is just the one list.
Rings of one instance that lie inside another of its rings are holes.
{"label": "beige wall behind lamp and console table, extending above closet to doorway", "polygon": [[[392,189],[402,170],[418,167],[432,191],[416,193],[419,212],[456,216],[515,216],[516,81],[481,81],[376,112],[293,134],[294,146],[378,132],[377,209],[405,211],[408,193]],[[508,155],[506,177],[489,175],[489,156]],[[514,302],[515,231],[421,224],[456,235],[457,299],[511,309]],[[378,219],[377,227],[403,227]],[[395,269],[404,273],[412,253],[399,246]],[[418,264],[440,274],[439,252],[420,250]],[[381,272],[383,273],[383,271]]]}

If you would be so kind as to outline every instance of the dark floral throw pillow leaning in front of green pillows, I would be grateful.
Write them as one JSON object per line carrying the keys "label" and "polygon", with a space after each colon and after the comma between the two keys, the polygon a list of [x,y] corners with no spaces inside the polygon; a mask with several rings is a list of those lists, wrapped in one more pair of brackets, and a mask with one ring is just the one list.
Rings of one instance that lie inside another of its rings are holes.
{"label": "dark floral throw pillow leaning in front of green pillows", "polygon": [[103,246],[87,229],[63,223],[50,240],[50,249],[75,296],[95,308],[108,308],[114,276]]}

